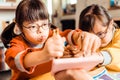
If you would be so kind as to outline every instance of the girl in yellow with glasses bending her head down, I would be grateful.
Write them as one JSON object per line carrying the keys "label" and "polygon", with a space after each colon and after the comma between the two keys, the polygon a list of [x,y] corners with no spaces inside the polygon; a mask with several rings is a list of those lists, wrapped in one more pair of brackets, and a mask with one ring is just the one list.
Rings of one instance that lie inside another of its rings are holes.
{"label": "girl in yellow with glasses bending her head down", "polygon": [[120,71],[120,29],[108,11],[93,4],[81,12],[79,19],[79,29],[101,38],[101,46],[97,53],[103,55],[104,61],[100,65],[109,71]]}

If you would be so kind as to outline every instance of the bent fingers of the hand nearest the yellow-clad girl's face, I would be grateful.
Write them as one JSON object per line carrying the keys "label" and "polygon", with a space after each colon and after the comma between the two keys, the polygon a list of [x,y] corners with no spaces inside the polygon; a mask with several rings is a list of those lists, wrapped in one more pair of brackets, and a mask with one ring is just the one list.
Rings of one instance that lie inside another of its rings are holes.
{"label": "bent fingers of the hand nearest the yellow-clad girl's face", "polygon": [[92,52],[95,52],[101,45],[101,40],[99,37],[87,32],[83,32],[83,37],[81,39],[81,51],[85,55],[90,55]]}

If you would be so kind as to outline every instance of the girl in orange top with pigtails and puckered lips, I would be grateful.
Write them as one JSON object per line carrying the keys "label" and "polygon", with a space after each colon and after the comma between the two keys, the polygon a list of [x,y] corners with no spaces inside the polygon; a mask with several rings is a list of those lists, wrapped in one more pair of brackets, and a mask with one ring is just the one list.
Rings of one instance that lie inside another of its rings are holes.
{"label": "girl in orange top with pigtails and puckered lips", "polygon": [[[52,58],[63,55],[63,36],[72,41],[77,31],[72,34],[72,30],[66,30],[60,32],[60,36],[58,30],[52,31],[51,28],[55,27],[49,23],[48,18],[48,11],[41,0],[22,0],[17,6],[15,22],[8,25],[1,34],[7,48],[5,61],[12,70],[11,80],[28,80],[37,76],[39,80],[54,80],[50,74]],[[96,35],[85,33],[86,38],[92,44],[96,43],[93,50],[100,45]],[[85,47],[89,45],[83,49]]]}

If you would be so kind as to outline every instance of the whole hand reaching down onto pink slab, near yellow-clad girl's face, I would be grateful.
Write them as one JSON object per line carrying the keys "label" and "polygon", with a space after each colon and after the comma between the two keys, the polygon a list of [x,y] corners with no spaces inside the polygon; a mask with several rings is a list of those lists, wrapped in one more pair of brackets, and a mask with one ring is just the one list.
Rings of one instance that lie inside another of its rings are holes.
{"label": "whole hand reaching down onto pink slab, near yellow-clad girl's face", "polygon": [[84,55],[95,52],[101,45],[101,39],[89,32],[75,32],[74,38],[75,44],[79,46]]}

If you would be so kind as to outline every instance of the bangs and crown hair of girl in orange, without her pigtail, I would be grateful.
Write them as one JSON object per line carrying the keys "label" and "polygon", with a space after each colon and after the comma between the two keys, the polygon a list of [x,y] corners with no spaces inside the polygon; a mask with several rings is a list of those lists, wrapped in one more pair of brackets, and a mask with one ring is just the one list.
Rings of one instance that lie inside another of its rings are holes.
{"label": "bangs and crown hair of girl in orange, without her pigtail", "polygon": [[23,0],[16,9],[15,22],[22,28],[23,22],[48,19],[48,11],[41,0]]}

